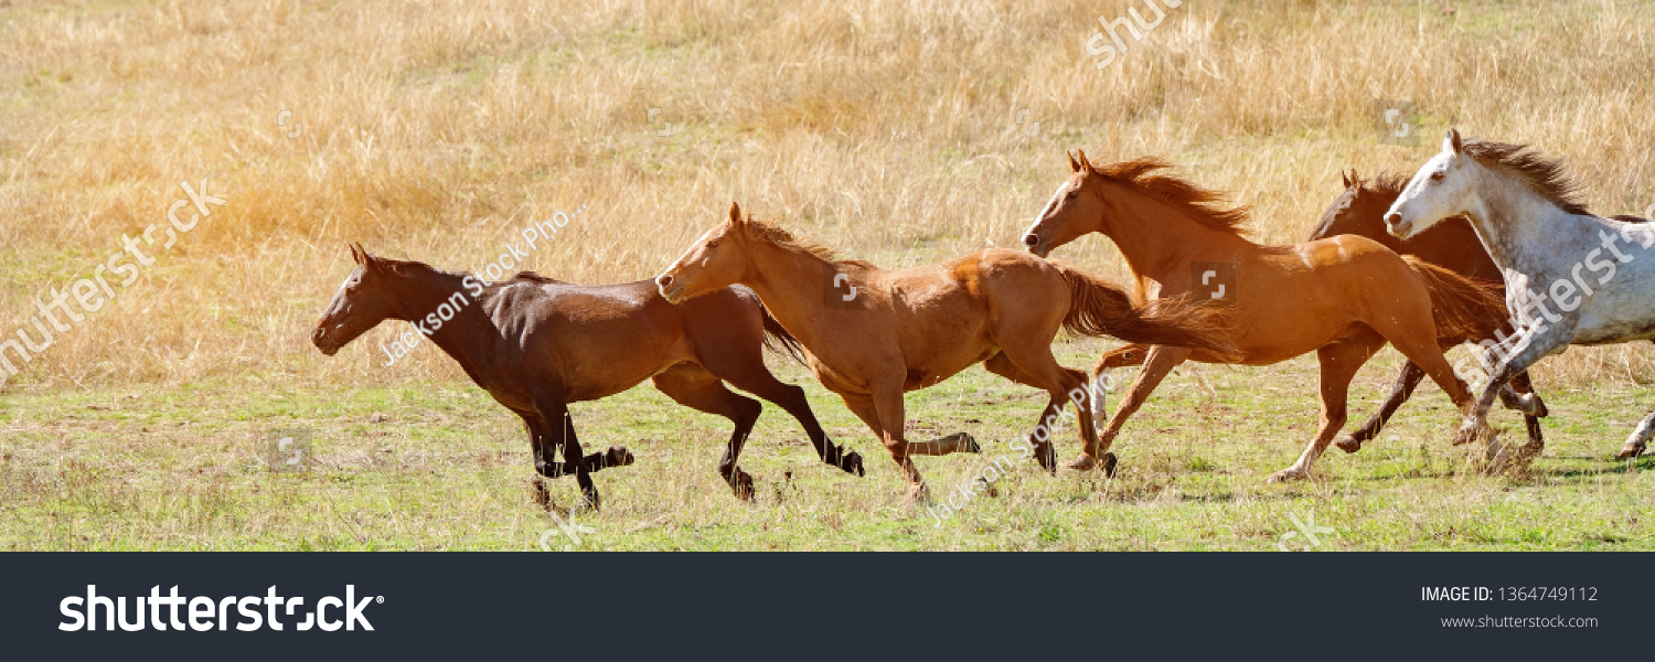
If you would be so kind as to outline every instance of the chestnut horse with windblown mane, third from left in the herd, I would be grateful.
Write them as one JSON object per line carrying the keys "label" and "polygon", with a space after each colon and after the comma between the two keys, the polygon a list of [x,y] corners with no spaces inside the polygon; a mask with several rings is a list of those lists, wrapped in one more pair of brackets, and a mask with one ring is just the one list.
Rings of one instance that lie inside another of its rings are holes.
{"label": "chestnut horse with windblown mane, third from left in the herd", "polygon": [[[1107,235],[1132,268],[1137,301],[1167,296],[1211,298],[1230,309],[1240,359],[1160,343],[1124,346],[1104,354],[1094,377],[1111,367],[1144,364],[1120,399],[1099,445],[1087,445],[1072,468],[1114,470],[1107,453],[1127,417],[1162,377],[1185,359],[1268,366],[1316,351],[1321,361],[1321,429],[1299,460],[1269,482],[1304,478],[1346,422],[1346,394],[1357,369],[1389,341],[1420,366],[1456,407],[1471,404],[1466,384],[1443,357],[1440,339],[1481,331],[1490,309],[1504,309],[1493,283],[1478,283],[1428,263],[1402,258],[1380,243],[1354,235],[1284,247],[1243,237],[1245,207],[1221,207],[1223,197],[1182,179],[1158,174],[1158,159],[1127,161],[1102,169],[1069,157],[1072,175],[1023,237],[1034,255],[1048,255],[1087,232]],[[1451,346],[1451,343],[1446,343]],[[1102,417],[1102,407],[1096,407]]]}

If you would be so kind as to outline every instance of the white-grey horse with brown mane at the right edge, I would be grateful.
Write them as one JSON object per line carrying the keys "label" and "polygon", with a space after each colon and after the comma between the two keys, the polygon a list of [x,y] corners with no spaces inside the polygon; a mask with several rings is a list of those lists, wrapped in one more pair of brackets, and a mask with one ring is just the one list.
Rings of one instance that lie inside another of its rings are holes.
{"label": "white-grey horse with brown mane at the right edge", "polygon": [[[1493,374],[1455,444],[1476,439],[1494,394],[1541,357],[1571,344],[1655,339],[1655,228],[1637,217],[1592,215],[1576,190],[1559,161],[1521,144],[1461,141],[1448,129],[1442,152],[1413,174],[1385,213],[1390,233],[1402,238],[1463,215],[1504,270],[1506,306],[1519,331],[1494,336],[1499,343],[1485,353]],[[1547,308],[1547,295],[1556,309]],[[1652,434],[1655,414],[1632,430],[1617,457],[1640,455]]]}

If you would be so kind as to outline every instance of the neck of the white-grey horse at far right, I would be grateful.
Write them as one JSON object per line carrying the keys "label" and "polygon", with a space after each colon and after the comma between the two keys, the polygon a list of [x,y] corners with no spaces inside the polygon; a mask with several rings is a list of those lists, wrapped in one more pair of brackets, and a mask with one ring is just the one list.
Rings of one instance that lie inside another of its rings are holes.
{"label": "neck of the white-grey horse at far right", "polygon": [[1546,253],[1557,248],[1559,237],[1576,240],[1579,233],[1592,233],[1592,217],[1564,212],[1523,182],[1485,170],[1485,182],[1465,215],[1501,270],[1528,271],[1533,265],[1549,263]]}

